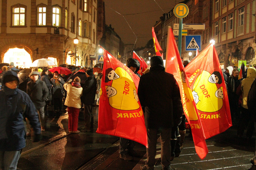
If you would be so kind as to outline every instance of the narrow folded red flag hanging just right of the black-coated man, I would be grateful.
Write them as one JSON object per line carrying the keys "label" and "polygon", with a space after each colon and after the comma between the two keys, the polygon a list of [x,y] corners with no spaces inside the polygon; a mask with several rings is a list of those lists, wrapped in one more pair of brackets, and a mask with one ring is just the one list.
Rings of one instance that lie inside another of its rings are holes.
{"label": "narrow folded red flag hanging just right of the black-coated man", "polygon": [[168,30],[167,38],[165,70],[174,75],[179,85],[183,111],[192,130],[196,153],[200,159],[204,159],[208,153],[204,131],[171,28]]}

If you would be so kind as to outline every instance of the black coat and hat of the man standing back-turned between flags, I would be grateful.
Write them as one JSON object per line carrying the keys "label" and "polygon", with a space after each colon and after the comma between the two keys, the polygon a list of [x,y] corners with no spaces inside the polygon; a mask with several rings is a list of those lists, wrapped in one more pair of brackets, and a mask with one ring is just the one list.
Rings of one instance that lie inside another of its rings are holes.
{"label": "black coat and hat of the man standing back-turned between flags", "polygon": [[176,80],[172,74],[165,72],[161,57],[153,56],[150,64],[150,71],[141,76],[138,85],[146,128],[177,126],[183,109]]}

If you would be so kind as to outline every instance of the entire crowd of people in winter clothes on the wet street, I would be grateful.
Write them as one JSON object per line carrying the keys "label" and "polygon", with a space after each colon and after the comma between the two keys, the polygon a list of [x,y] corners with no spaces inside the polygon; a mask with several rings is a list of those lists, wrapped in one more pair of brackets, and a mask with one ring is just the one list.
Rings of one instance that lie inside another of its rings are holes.
{"label": "entire crowd of people in winter clothes on the wet street", "polygon": [[[189,62],[184,60],[184,67]],[[138,60],[129,58],[126,64],[140,77],[137,93],[148,137],[147,161],[141,165],[141,169],[154,169],[157,135],[160,132],[161,163],[163,169],[168,170],[170,161],[181,153],[186,133],[179,87],[174,76],[165,72],[160,56],[150,59],[150,68],[143,75],[138,74]],[[68,75],[58,71],[51,73],[49,68],[42,68],[40,71],[38,68],[31,68],[29,74],[20,80],[17,73],[22,69],[14,67],[13,62],[9,64],[9,68],[3,66],[1,69],[0,107],[8,107],[0,111],[0,168],[15,169],[22,148],[25,147],[26,136],[34,131],[33,141],[40,141],[41,131],[47,130],[45,115],[59,117],[64,106],[68,111],[69,133],[93,130],[92,107],[99,104],[102,73],[93,73],[93,68],[84,68],[85,76],[81,78],[75,74],[79,67],[68,67],[72,72]],[[256,99],[256,70],[254,67],[247,68],[243,79],[238,79],[239,71],[232,66],[222,69],[237,136],[241,138],[247,129],[246,138],[250,139],[256,127],[256,106],[252,102]],[[49,104],[54,106],[54,113],[47,110]],[[78,130],[78,115],[82,107],[85,125]],[[120,158],[131,161],[134,156],[139,157],[134,146],[134,141],[120,137]],[[256,156],[251,159],[251,163],[256,165]]]}

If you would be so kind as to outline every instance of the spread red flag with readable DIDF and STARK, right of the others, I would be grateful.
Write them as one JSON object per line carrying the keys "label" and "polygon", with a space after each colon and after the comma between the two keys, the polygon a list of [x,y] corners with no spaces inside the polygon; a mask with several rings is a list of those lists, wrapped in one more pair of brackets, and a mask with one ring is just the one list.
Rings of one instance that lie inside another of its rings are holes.
{"label": "spread red flag with readable DIDF and STARK, right of the others", "polygon": [[185,71],[206,139],[231,127],[227,89],[214,45],[201,51]]}

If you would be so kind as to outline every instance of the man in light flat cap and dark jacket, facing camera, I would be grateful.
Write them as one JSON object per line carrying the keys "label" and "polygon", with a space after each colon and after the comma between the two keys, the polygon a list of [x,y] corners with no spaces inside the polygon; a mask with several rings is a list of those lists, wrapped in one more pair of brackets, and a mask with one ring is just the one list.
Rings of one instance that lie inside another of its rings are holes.
{"label": "man in light flat cap and dark jacket, facing camera", "polygon": [[38,79],[39,73],[37,71],[32,71],[29,74],[31,79],[30,82],[27,84],[27,94],[29,95],[30,99],[35,104],[37,112],[39,113],[39,120],[41,124],[41,131],[45,131],[45,100],[48,96],[49,90],[46,86],[44,81]]}

